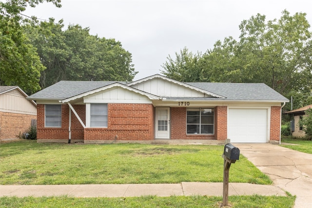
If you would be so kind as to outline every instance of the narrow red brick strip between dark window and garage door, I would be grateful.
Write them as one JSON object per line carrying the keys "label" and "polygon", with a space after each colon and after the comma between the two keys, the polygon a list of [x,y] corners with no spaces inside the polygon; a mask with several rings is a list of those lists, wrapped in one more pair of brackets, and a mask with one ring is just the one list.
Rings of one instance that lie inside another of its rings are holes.
{"label": "narrow red brick strip between dark window and garage door", "polygon": [[228,108],[227,106],[215,107],[215,138],[225,140],[228,136]]}

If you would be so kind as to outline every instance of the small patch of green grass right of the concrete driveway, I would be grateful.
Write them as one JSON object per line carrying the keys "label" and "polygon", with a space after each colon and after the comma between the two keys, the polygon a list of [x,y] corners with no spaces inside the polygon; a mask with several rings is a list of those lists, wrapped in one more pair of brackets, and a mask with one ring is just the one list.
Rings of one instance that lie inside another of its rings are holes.
{"label": "small patch of green grass right of the concrete driveway", "polygon": [[[302,140],[298,138],[292,138],[291,136],[283,136],[283,143],[289,143],[289,145],[282,144],[282,147],[286,147],[292,150],[306,152],[312,154],[312,141],[311,140]],[[296,144],[296,145],[292,145]]]}

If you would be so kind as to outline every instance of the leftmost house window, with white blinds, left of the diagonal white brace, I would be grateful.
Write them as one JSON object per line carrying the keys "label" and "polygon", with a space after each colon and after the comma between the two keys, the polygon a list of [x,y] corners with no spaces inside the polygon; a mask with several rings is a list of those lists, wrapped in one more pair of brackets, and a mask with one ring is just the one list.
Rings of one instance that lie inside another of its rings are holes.
{"label": "leftmost house window, with white blinds, left of the diagonal white brace", "polygon": [[61,105],[45,105],[45,127],[61,127]]}

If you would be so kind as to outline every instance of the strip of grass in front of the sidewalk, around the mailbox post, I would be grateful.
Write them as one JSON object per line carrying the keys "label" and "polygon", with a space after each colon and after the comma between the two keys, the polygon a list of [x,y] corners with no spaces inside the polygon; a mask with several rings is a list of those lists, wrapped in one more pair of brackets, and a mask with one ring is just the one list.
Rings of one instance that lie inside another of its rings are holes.
{"label": "strip of grass in front of the sidewalk, around the mailbox post", "polygon": [[[231,208],[292,208],[294,196],[229,196]],[[0,197],[0,207],[14,208],[219,208],[222,197],[215,196],[141,196],[127,198]]]}

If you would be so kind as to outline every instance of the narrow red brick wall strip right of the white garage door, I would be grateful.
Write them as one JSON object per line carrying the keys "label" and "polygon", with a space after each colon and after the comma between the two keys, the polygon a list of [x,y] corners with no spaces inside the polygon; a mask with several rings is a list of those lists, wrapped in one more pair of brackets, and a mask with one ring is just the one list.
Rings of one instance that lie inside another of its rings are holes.
{"label": "narrow red brick wall strip right of the white garage door", "polygon": [[271,106],[270,140],[278,140],[280,137],[281,107]]}

